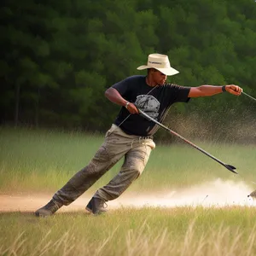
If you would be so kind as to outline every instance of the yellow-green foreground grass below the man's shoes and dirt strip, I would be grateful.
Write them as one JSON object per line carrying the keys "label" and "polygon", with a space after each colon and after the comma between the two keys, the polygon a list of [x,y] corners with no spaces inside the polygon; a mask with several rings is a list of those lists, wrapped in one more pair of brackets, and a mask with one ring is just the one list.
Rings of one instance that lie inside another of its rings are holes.
{"label": "yellow-green foreground grass below the man's shoes and dirt strip", "polygon": [[119,209],[105,216],[1,214],[0,255],[255,255],[255,209]]}

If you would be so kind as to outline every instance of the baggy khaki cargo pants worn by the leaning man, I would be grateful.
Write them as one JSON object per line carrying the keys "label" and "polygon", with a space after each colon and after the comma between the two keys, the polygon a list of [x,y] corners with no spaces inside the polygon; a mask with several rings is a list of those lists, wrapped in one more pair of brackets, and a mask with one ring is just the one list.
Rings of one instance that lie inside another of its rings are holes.
{"label": "baggy khaki cargo pants worn by the leaning man", "polygon": [[117,125],[112,125],[106,133],[104,143],[89,165],[77,172],[57,191],[53,200],[69,205],[125,156],[120,172],[93,195],[105,201],[119,197],[142,174],[149,154],[154,148],[152,138],[128,135]]}

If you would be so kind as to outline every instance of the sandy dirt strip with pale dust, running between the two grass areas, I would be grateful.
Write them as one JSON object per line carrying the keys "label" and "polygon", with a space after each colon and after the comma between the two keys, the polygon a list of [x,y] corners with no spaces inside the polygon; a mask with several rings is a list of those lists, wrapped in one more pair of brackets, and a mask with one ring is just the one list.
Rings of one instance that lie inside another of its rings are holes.
{"label": "sandy dirt strip with pale dust, running between the two grass areas", "polygon": [[[248,198],[255,188],[246,183],[215,180],[209,183],[189,187],[179,191],[160,191],[154,193],[125,193],[114,201],[108,201],[108,209],[119,207],[226,207],[226,206],[256,206],[256,200]],[[0,192],[0,212],[34,212],[44,206],[52,195],[20,194],[6,195]],[[68,207],[61,207],[59,212],[85,211],[84,207],[90,201],[86,193]]]}

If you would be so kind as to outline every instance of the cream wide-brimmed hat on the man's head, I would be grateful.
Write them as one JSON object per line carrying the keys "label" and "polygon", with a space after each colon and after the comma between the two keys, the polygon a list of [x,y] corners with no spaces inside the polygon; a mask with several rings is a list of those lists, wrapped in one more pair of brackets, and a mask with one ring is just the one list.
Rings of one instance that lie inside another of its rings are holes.
{"label": "cream wide-brimmed hat on the man's head", "polygon": [[171,67],[169,58],[167,55],[151,54],[148,55],[148,65],[137,67],[138,70],[147,68],[155,68],[166,76],[172,76],[178,73],[178,71]]}

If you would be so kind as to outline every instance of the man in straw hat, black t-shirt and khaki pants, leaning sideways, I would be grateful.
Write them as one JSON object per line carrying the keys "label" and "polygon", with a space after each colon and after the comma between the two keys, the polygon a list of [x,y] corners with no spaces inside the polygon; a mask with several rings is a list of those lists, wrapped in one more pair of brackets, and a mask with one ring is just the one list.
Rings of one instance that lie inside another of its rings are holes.
{"label": "man in straw hat, black t-shirt and khaki pants, leaning sideways", "polygon": [[167,110],[175,102],[189,102],[190,97],[212,96],[224,91],[239,96],[242,91],[234,84],[199,87],[166,84],[167,75],[178,73],[171,67],[166,55],[148,55],[148,64],[137,69],[148,69],[148,75],[129,77],[113,84],[105,92],[108,100],[122,108],[89,165],[57,191],[47,205],[38,209],[36,216],[49,216],[63,205],[72,203],[123,156],[125,160],[120,172],[106,186],[96,191],[86,207],[88,211],[93,214],[106,212],[105,202],[119,197],[142,174],[149,154],[155,147],[153,135],[157,126],[139,115],[138,108],[162,122]]}

